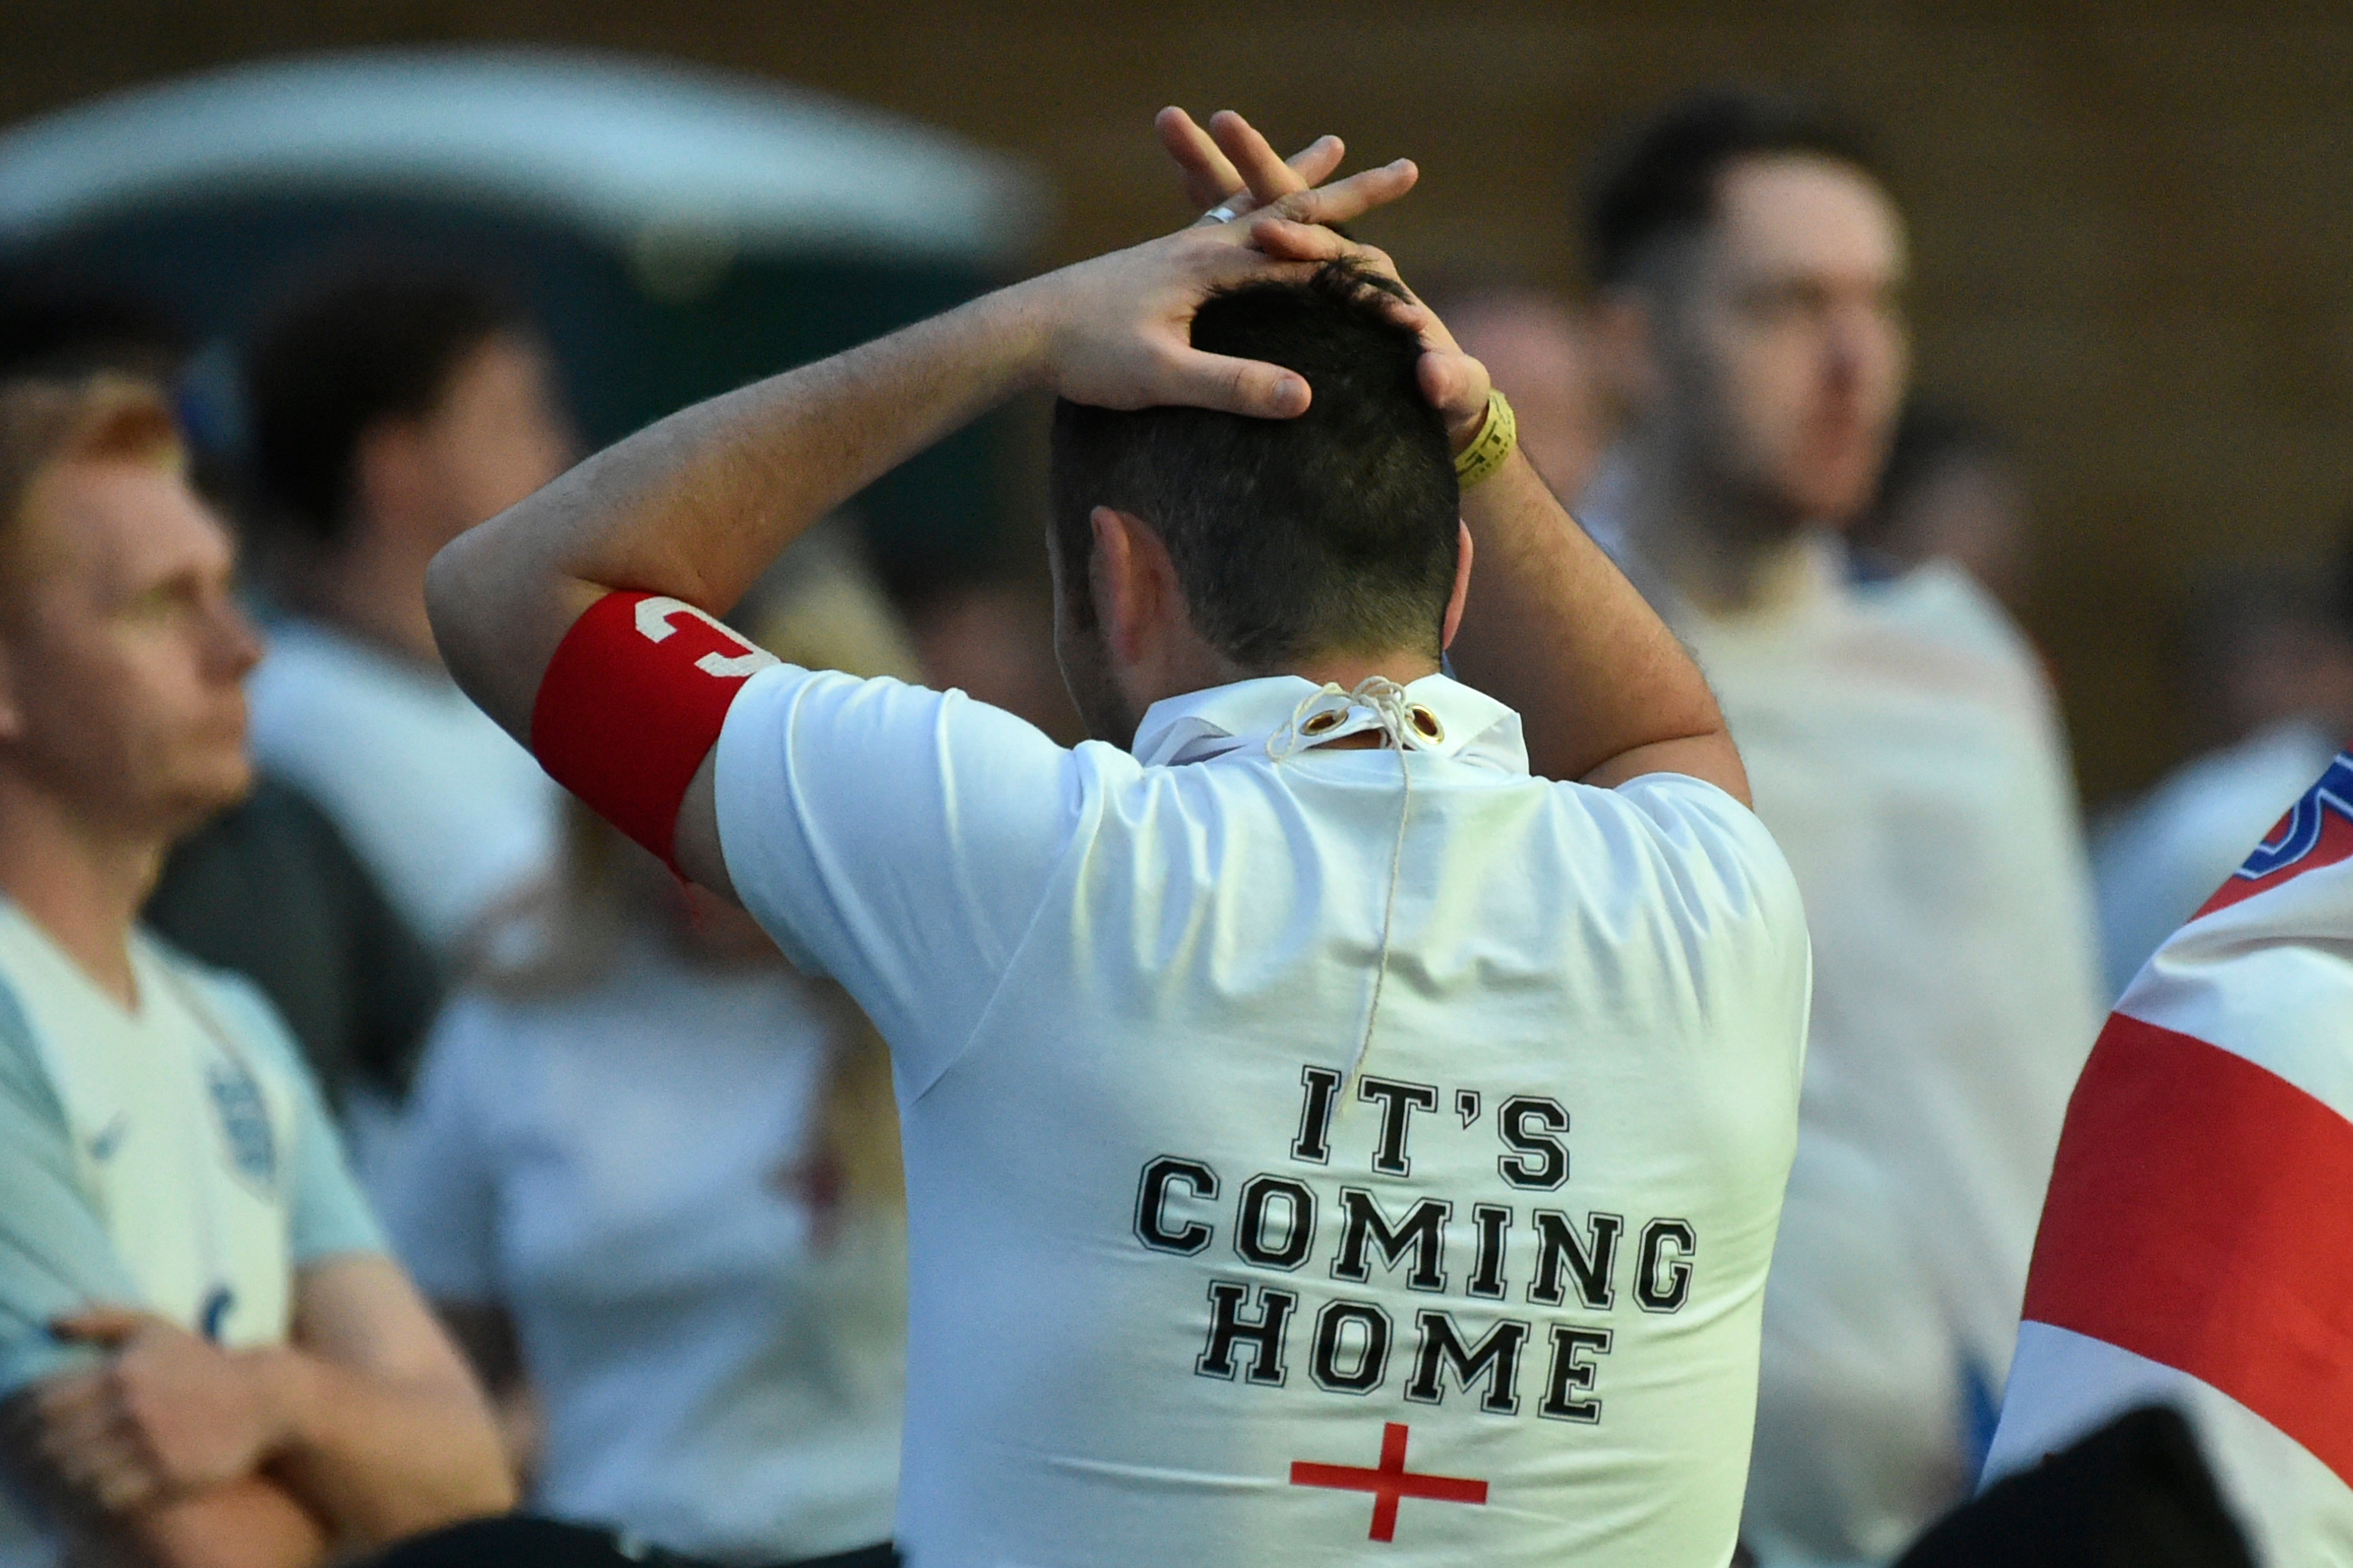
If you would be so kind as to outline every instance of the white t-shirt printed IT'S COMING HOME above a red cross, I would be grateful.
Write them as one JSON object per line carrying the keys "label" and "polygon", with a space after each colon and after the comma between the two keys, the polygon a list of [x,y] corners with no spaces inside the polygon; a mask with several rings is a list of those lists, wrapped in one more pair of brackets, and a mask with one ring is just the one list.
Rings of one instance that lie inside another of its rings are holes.
{"label": "white t-shirt printed IT'S COMING HOME above a red cross", "polygon": [[1372,715],[1306,698],[1167,701],[1136,755],[791,665],[727,717],[736,891],[894,1051],[899,1542],[1715,1568],[1795,884],[1706,783],[1529,778],[1518,715],[1452,679],[1409,686],[1442,731],[1409,752],[1325,745]]}

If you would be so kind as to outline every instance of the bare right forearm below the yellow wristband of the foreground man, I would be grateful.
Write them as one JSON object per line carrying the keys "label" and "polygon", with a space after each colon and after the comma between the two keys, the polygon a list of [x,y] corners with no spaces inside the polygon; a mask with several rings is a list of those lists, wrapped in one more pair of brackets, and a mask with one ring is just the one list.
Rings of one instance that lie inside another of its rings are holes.
{"label": "bare right forearm below the yellow wristband of the foreground man", "polygon": [[1454,668],[1515,708],[1546,778],[1694,771],[1748,799],[1706,679],[1522,454],[1464,494],[1475,569]]}

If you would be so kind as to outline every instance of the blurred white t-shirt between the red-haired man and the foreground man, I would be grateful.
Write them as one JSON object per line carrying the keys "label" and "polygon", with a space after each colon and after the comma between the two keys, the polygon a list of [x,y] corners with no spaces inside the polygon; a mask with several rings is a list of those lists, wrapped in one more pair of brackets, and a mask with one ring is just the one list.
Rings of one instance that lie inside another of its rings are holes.
{"label": "blurred white t-shirt between the red-haired man and the foreground man", "polygon": [[906,1232],[793,1185],[831,1030],[786,971],[649,943],[438,1025],[379,1199],[428,1295],[513,1314],[536,1512],[718,1561],[889,1540]]}

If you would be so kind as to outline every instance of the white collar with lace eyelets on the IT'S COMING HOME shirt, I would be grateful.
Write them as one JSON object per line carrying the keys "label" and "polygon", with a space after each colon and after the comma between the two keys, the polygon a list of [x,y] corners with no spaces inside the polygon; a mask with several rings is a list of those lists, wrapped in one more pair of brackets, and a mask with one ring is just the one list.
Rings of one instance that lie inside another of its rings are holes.
{"label": "white collar with lace eyelets on the IT'S COMING HOME shirt", "polygon": [[[1268,675],[1261,679],[1207,686],[1153,703],[1136,726],[1136,762],[1144,766],[1181,766],[1207,762],[1233,752],[1266,755],[1266,743],[1292,722],[1299,703],[1315,696],[1320,686],[1301,675]],[[1527,771],[1527,741],[1520,738],[1520,715],[1497,703],[1485,691],[1473,691],[1447,675],[1424,675],[1405,689],[1405,698],[1435,715],[1440,736],[1419,743],[1442,757],[1497,769],[1501,773]],[[1301,750],[1372,729],[1365,712],[1353,712],[1351,722],[1332,726],[1327,733],[1304,738]]]}

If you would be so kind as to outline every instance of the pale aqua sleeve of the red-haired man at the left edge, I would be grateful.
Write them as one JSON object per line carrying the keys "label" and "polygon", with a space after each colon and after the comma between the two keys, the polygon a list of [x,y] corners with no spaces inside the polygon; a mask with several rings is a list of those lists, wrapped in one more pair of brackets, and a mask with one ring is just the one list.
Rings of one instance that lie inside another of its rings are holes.
{"label": "pale aqua sleeve of the red-haired man at the left edge", "polygon": [[73,1133],[16,997],[0,985],[0,1399],[96,1361],[49,1321],[139,1302],[96,1204],[73,1168]]}

